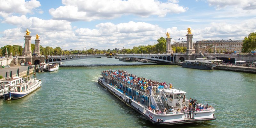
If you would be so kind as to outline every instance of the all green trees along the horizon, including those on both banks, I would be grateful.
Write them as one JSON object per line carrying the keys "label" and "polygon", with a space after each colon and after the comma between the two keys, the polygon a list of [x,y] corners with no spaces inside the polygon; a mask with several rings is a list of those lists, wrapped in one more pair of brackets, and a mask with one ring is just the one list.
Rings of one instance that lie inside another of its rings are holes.
{"label": "all green trees along the horizon, including those on both banks", "polygon": [[[19,56],[22,55],[23,47],[20,45],[6,45],[1,47],[0,49],[0,56],[5,56],[5,50],[8,50],[8,55],[12,52],[12,55],[18,54]],[[187,47],[174,47],[172,46],[172,50],[174,53],[186,53]],[[242,52],[251,52],[256,50],[256,32],[252,32],[248,35],[248,37],[244,37],[243,45],[242,45]],[[31,52],[34,53],[35,51],[35,44],[31,44]],[[88,49],[88,50],[63,50],[60,47],[52,48],[50,46],[43,47],[40,45],[40,53],[41,55],[74,55],[74,54],[104,54],[104,53],[118,53],[118,54],[141,54],[141,53],[165,53],[166,52],[166,39],[161,37],[157,40],[157,44],[154,45],[139,45],[134,46],[132,49],[123,48],[113,49],[113,50],[98,50],[98,49]],[[209,52],[212,52],[209,50]],[[219,52],[219,51],[217,51]],[[220,51],[222,52],[222,51]]]}

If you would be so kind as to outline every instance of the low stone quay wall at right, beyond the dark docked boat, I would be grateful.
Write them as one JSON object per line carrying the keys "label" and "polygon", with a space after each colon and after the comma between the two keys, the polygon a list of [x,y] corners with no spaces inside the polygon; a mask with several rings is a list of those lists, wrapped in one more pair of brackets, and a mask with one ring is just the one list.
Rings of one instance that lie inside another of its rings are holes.
{"label": "low stone quay wall at right, beyond the dark docked boat", "polygon": [[247,72],[247,73],[256,73],[256,68],[248,67],[236,67],[236,66],[216,66],[214,69],[227,70],[227,71],[236,71],[236,72]]}

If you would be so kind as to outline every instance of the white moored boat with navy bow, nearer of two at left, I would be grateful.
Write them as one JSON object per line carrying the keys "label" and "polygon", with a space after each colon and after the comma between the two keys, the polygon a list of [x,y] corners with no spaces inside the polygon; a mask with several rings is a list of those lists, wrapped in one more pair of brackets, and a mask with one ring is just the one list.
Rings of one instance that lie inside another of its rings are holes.
{"label": "white moored boat with navy bow, nearer of two at left", "polygon": [[15,100],[25,97],[40,88],[41,84],[41,80],[34,78],[23,83],[9,86],[9,91],[4,92],[4,100]]}

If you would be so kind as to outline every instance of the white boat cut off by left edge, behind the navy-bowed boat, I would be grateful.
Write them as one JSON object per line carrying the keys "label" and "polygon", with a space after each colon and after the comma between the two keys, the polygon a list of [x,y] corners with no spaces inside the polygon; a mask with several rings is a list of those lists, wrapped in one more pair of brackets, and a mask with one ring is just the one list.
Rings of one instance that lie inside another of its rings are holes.
{"label": "white boat cut off by left edge, behind the navy-bowed boat", "polygon": [[0,99],[4,97],[4,92],[7,92],[10,86],[14,86],[22,82],[23,78],[19,76],[14,76],[0,81]]}

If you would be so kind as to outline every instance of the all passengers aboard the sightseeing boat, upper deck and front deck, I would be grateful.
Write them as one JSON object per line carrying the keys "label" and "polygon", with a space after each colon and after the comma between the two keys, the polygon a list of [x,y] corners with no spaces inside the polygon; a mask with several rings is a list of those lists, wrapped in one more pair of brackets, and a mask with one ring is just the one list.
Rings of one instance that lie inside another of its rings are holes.
{"label": "all passengers aboard the sightseeing boat, upper deck and front deck", "polygon": [[[153,80],[148,80],[146,78],[143,77],[137,77],[133,74],[129,74],[127,71],[123,71],[123,70],[106,70],[106,71],[102,71],[102,75],[108,76],[111,79],[116,79],[119,81],[123,81],[126,84],[129,84],[137,89],[139,89],[140,91],[143,91],[147,94],[152,94],[152,90],[153,93],[156,92],[156,89],[159,86],[163,86],[164,88],[168,89],[168,88],[172,88],[172,84],[167,85],[165,82],[156,82]],[[115,88],[117,89],[117,86],[115,86]],[[119,89],[122,89],[122,87],[120,86]],[[125,93],[125,90],[124,90]],[[134,99],[135,100],[135,99]],[[166,115],[166,113],[185,113],[186,118],[192,118],[192,112],[194,111],[202,111],[202,110],[210,110],[212,109],[212,106],[207,105],[202,105],[202,104],[198,104],[198,102],[196,102],[197,100],[189,99],[189,107],[183,107],[182,109],[178,108],[176,110],[174,110],[173,107],[171,107],[169,110],[167,108],[164,108],[164,111],[162,112],[161,110],[155,110],[152,109],[150,106],[148,106],[148,109],[156,114],[164,114]],[[140,103],[140,102],[139,102]],[[144,99],[142,98],[142,104],[144,103]]]}

